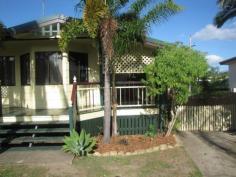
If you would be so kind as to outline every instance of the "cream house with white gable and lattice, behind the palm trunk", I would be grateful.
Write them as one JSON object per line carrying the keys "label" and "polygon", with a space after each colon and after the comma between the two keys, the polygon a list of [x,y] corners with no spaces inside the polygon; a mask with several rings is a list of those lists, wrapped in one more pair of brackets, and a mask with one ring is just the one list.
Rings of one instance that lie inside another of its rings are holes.
{"label": "cream house with white gable and lattice, behind the palm trunk", "polygon": [[[74,76],[80,111],[91,112],[102,107],[103,62],[98,57],[96,42],[81,36],[70,43],[68,53],[61,53],[58,47],[60,30],[68,19],[57,15],[10,28],[13,37],[3,41],[0,47],[3,108],[66,110],[70,106]],[[128,115],[129,111],[150,114],[147,108],[154,105],[154,100],[147,96],[141,79],[143,67],[152,62],[156,47],[156,40],[147,39],[143,47],[124,56],[117,65],[118,114]],[[126,109],[122,112],[121,108]],[[14,121],[33,121],[32,117],[23,115],[18,119]],[[60,120],[51,116],[49,120],[57,119]],[[3,119],[7,120],[10,119]]]}

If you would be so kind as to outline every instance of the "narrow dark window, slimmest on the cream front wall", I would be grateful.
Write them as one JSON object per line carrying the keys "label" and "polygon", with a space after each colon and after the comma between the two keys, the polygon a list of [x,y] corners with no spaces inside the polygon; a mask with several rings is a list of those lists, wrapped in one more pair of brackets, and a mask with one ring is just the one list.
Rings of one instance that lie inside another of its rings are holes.
{"label": "narrow dark window, slimmest on the cream front wall", "polygon": [[30,55],[29,53],[20,56],[21,85],[30,85]]}

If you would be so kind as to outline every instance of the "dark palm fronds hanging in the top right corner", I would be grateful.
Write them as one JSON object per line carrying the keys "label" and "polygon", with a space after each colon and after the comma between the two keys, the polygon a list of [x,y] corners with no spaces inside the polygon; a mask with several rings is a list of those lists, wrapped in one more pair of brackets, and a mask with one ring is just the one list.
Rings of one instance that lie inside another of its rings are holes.
{"label": "dark palm fronds hanging in the top right corner", "polygon": [[214,24],[217,26],[217,28],[220,28],[226,21],[236,16],[236,1],[218,0],[217,4],[220,6],[220,11],[214,18]]}

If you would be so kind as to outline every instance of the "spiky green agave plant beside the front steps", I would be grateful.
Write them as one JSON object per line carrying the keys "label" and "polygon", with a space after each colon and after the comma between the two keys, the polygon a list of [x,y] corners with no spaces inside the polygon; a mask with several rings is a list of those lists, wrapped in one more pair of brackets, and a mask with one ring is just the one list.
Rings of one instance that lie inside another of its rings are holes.
{"label": "spiky green agave plant beside the front steps", "polygon": [[82,129],[80,135],[73,130],[71,135],[66,136],[63,141],[65,143],[63,150],[72,153],[74,156],[86,156],[96,145],[95,138],[90,137],[90,134],[86,134],[84,129]]}

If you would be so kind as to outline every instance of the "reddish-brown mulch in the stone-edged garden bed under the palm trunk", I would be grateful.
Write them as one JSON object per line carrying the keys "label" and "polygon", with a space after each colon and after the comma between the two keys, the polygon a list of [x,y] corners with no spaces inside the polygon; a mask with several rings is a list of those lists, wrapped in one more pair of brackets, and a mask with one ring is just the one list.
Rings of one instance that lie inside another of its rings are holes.
{"label": "reddish-brown mulch in the stone-edged garden bed under the palm trunk", "polygon": [[111,137],[109,144],[103,143],[103,137],[97,137],[96,152],[106,153],[111,151],[116,152],[134,152],[137,150],[149,149],[161,144],[175,145],[175,137],[170,135],[168,137],[156,136],[154,138],[146,137],[144,135],[125,135]]}

